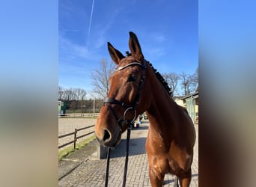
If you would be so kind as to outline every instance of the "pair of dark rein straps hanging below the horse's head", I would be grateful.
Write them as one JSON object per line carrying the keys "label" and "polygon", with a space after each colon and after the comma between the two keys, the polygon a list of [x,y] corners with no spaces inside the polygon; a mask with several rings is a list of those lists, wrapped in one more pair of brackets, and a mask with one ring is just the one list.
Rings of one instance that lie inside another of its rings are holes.
{"label": "pair of dark rein straps hanging below the horse's head", "polygon": [[[127,166],[128,166],[128,156],[129,156],[129,138],[131,135],[131,128],[132,123],[128,123],[127,128],[127,155],[125,157],[125,164],[124,164],[124,179],[123,179],[123,187],[125,187],[125,184],[127,183]],[[110,150],[111,148],[108,148],[108,156],[107,156],[107,165],[106,165],[106,178],[105,178],[105,187],[108,187],[109,183],[109,159],[110,159]]]}

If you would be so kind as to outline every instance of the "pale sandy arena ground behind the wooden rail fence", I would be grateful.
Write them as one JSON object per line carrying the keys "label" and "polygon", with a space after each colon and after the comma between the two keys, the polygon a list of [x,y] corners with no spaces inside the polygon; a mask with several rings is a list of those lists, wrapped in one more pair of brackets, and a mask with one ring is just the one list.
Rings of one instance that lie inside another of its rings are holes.
{"label": "pale sandy arena ground behind the wooden rail fence", "polygon": [[[85,118],[85,117],[58,118],[58,135],[65,135],[67,133],[74,132],[75,129],[80,129],[85,126],[91,126],[91,125],[94,125],[95,123],[96,123],[96,119]],[[85,133],[88,133],[91,131],[94,131],[94,127],[77,132],[77,136],[84,135]],[[94,135],[94,134],[91,134],[91,135]],[[79,143],[80,141],[85,140],[86,138],[90,137],[91,135],[85,136],[83,138],[79,138],[76,142]],[[73,141],[73,138],[74,138],[73,135],[70,135],[70,136],[67,136],[64,138],[59,138],[58,146],[65,144],[69,141]],[[71,145],[73,145],[73,144],[70,144],[68,146],[71,146]],[[65,148],[65,147],[63,147],[63,148]],[[61,148],[61,149],[63,149],[63,148]],[[61,149],[59,149],[59,150],[61,150]]]}

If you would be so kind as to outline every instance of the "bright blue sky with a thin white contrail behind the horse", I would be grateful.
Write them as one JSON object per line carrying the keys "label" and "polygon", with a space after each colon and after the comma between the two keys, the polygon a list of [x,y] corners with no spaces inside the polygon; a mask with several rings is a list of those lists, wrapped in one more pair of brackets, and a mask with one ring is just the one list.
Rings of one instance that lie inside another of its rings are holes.
{"label": "bright blue sky with a thin white contrail behind the horse", "polygon": [[135,32],[144,58],[160,73],[198,67],[198,1],[61,0],[58,2],[58,84],[92,91],[91,71],[111,61],[109,41],[125,54]]}

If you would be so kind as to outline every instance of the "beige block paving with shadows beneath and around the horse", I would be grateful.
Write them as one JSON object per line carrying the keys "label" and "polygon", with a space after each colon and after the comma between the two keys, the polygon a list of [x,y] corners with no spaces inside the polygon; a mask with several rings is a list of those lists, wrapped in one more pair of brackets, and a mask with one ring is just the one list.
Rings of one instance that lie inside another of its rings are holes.
{"label": "beige block paving with shadows beneath and around the horse", "polygon": [[[127,169],[127,186],[150,186],[148,176],[147,154],[145,140],[149,123],[142,123],[138,129],[132,129],[129,143],[129,162]],[[198,125],[195,125],[197,139],[192,163],[192,187],[198,186]],[[126,132],[122,135],[121,143],[112,150],[109,168],[109,186],[122,186],[124,175]],[[85,147],[86,148],[86,147]],[[59,186],[104,186],[106,159],[85,159],[66,177],[58,181]],[[163,186],[173,186],[174,177],[165,175]]]}

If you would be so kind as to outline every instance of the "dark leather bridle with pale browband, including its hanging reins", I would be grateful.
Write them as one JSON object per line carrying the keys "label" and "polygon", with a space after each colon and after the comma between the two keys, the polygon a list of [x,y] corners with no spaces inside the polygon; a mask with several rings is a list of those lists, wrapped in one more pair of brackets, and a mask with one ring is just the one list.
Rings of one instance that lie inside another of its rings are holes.
{"label": "dark leather bridle with pale browband, including its hanging reins", "polygon": [[[126,180],[127,180],[127,165],[128,165],[128,156],[129,156],[129,137],[130,137],[130,132],[131,132],[131,128],[132,128],[132,124],[135,121],[136,118],[136,106],[138,105],[139,99],[140,99],[140,94],[141,94],[141,89],[143,87],[144,84],[144,79],[145,79],[145,70],[147,69],[147,64],[146,61],[144,60],[144,63],[141,64],[139,62],[132,62],[129,63],[127,65],[125,65],[124,67],[118,67],[115,68],[115,71],[121,71],[124,70],[127,67],[131,67],[131,66],[139,66],[142,68],[142,75],[141,75],[141,80],[139,82],[138,85],[138,91],[137,91],[137,95],[135,96],[134,101],[132,102],[132,104],[127,104],[125,102],[121,102],[117,99],[111,98],[111,97],[107,97],[104,101],[103,101],[103,105],[106,105],[110,111],[112,111],[112,114],[115,117],[115,120],[117,120],[118,125],[120,126],[120,131],[122,132],[123,127],[125,124],[127,124],[127,153],[126,153],[126,158],[125,158],[125,165],[124,165],[124,179],[123,179],[123,187],[126,184]],[[120,119],[117,114],[115,114],[114,109],[112,108],[111,105],[109,104],[114,104],[114,105],[121,105],[121,107],[125,108],[124,114],[123,114],[123,119]],[[134,117],[132,118],[132,120],[127,120],[126,119],[126,114],[127,111],[134,111]],[[109,180],[109,159],[110,159],[110,150],[111,148],[108,148],[108,155],[107,155],[107,165],[106,165],[106,178],[105,178],[105,186],[108,186],[108,180]]]}

